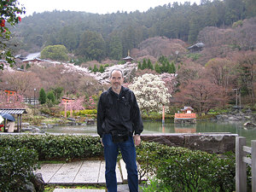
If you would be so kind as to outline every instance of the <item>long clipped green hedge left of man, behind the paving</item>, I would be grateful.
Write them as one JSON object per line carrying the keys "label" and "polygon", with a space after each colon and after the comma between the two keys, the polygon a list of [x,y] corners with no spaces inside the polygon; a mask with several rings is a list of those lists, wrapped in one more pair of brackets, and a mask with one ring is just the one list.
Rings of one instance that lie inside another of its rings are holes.
{"label": "long clipped green hedge left of man, behind the paving", "polygon": [[38,151],[39,160],[72,160],[103,156],[99,137],[84,135],[1,136],[0,146],[33,148]]}

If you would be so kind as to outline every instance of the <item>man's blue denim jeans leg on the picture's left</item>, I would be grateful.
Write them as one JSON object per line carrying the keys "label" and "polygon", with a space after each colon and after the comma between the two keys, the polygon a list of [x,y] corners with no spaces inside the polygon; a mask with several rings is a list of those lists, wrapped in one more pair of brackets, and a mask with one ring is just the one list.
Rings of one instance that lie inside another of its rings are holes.
{"label": "man's blue denim jeans leg on the picture's left", "polygon": [[106,134],[102,137],[102,143],[104,144],[104,157],[106,160],[106,185],[108,192],[117,191],[117,180],[115,175],[115,166],[117,156],[119,152],[118,145],[112,142],[111,134]]}

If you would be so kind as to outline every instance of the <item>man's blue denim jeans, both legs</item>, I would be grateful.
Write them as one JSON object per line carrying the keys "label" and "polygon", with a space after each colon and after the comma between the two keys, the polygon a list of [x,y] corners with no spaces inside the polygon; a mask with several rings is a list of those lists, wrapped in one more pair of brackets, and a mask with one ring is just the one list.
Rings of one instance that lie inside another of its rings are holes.
{"label": "man's blue denim jeans, both legs", "polygon": [[105,134],[102,137],[104,144],[104,156],[106,160],[105,178],[108,192],[117,191],[117,180],[115,175],[115,166],[119,149],[123,160],[125,161],[126,170],[128,173],[128,186],[131,192],[138,191],[136,149],[133,142],[133,137],[124,143],[113,143],[111,134]]}

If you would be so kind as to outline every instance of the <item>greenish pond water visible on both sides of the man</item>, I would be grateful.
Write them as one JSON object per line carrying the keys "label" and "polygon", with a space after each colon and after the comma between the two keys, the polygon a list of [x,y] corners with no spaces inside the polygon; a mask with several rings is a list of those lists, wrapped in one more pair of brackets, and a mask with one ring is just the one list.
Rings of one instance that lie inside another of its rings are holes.
{"label": "greenish pond water visible on both sides of the man", "polygon": [[[160,121],[144,121],[143,133],[199,133],[199,132],[230,132],[247,138],[247,146],[251,146],[251,140],[256,140],[256,128],[247,129],[243,127],[244,122],[215,122],[198,121],[195,125],[176,125],[166,122],[164,125]],[[65,125],[55,126],[46,129],[48,133],[68,133],[68,134],[96,134],[96,125]]]}

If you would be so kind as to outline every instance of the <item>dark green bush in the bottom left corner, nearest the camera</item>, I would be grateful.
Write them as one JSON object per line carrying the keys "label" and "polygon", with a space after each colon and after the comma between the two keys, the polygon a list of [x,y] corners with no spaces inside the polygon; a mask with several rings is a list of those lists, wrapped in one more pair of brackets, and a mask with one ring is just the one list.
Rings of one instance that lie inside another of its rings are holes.
{"label": "dark green bush in the bottom left corner, nearest the camera", "polygon": [[28,148],[0,148],[0,191],[25,191],[23,188],[29,183],[36,164],[38,154]]}

